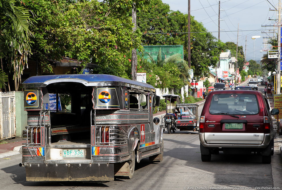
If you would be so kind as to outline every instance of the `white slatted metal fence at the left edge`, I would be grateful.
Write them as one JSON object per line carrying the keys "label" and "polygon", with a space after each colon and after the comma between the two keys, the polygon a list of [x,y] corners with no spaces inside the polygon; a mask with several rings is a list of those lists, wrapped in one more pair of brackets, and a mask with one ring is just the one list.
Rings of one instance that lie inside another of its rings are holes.
{"label": "white slatted metal fence at the left edge", "polygon": [[15,91],[0,92],[0,140],[16,136]]}

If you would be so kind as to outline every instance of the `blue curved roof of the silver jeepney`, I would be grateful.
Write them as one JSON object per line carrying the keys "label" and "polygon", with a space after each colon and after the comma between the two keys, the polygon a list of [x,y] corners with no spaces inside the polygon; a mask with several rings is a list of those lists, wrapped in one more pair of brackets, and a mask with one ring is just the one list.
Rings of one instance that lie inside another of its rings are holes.
{"label": "blue curved roof of the silver jeepney", "polygon": [[[114,75],[105,74],[68,74],[68,75],[40,75],[32,76],[23,82],[24,87],[45,87],[57,82],[77,82],[85,86],[126,86],[137,89],[147,88],[154,91],[155,88],[147,83],[133,81]],[[141,88],[142,87],[142,88]]]}

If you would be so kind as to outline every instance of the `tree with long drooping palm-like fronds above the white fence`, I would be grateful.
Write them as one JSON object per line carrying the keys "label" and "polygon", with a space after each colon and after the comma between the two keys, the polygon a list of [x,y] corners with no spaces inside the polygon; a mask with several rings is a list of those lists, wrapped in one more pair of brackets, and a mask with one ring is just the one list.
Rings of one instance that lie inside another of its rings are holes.
{"label": "tree with long drooping palm-like fronds above the white fence", "polygon": [[[13,76],[15,90],[30,55],[30,18],[22,0],[0,1],[0,58],[1,66]],[[10,88],[10,87],[9,87]]]}

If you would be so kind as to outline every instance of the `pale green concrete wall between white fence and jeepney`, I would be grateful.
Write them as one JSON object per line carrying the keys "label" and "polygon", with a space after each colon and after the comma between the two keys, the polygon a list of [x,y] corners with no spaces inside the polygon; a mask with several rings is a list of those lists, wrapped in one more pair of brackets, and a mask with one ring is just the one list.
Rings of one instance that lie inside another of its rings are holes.
{"label": "pale green concrete wall between white fence and jeepney", "polygon": [[24,111],[24,92],[15,92],[16,101],[16,136],[22,137],[22,131],[27,126],[27,111]]}

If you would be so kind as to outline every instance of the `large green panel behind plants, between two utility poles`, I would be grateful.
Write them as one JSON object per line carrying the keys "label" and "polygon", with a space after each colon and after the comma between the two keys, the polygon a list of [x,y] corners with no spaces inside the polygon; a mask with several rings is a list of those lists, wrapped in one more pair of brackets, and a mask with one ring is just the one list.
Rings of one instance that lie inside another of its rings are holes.
{"label": "large green panel behind plants, between two utility poles", "polygon": [[[174,54],[180,54],[182,59],[183,59],[183,45],[169,45],[169,46],[143,46],[144,51],[150,54],[150,56],[154,59],[157,60],[158,58],[158,53],[161,48],[162,52],[162,60],[166,58],[169,58],[170,56]],[[144,54],[144,59],[149,59],[149,55]]]}

